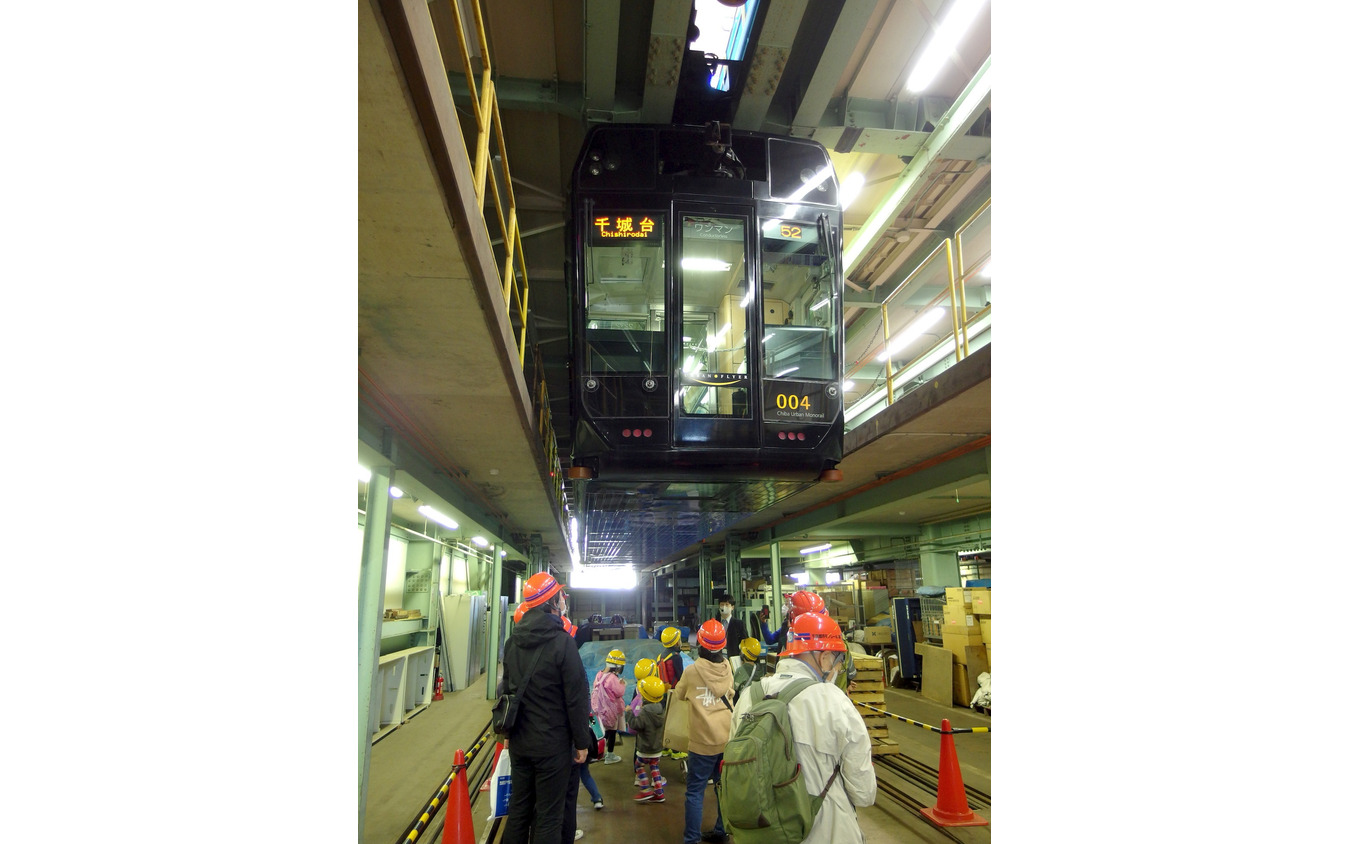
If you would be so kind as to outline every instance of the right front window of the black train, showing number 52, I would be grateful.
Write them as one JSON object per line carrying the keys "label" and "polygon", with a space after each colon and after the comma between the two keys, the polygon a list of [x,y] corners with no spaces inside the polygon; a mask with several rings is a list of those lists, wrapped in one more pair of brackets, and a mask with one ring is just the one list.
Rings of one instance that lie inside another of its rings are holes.
{"label": "right front window of the black train, showing number 52", "polygon": [[764,244],[764,375],[833,379],[834,267],[814,223],[771,220]]}

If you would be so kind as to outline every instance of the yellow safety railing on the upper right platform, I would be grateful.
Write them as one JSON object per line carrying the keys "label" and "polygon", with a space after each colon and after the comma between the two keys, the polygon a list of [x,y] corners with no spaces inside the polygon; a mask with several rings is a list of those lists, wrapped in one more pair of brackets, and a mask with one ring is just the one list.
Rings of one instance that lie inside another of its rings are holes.
{"label": "yellow safety railing on the upper right platform", "polygon": [[[950,334],[940,338],[937,343],[929,346],[922,352],[914,355],[906,366],[895,369],[891,365],[891,355],[886,357],[886,405],[895,402],[895,385],[903,384],[911,374],[911,371],[915,369],[915,365],[918,365],[921,361],[932,361],[932,354],[936,350],[944,346],[950,346],[952,354],[956,355],[957,361],[963,361],[971,354],[971,339],[969,339],[971,327],[984,325],[987,321],[986,317],[991,315],[991,307],[987,305],[973,316],[969,315],[965,307],[965,284],[976,274],[981,273],[984,267],[990,265],[991,253],[986,253],[981,258],[979,258],[975,262],[975,266],[969,271],[967,271],[964,263],[965,262],[964,240],[967,231],[976,220],[981,217],[981,215],[990,211],[990,205],[991,200],[986,200],[984,204],[981,204],[965,220],[965,223],[957,227],[957,230],[952,234],[950,238],[945,238],[937,246],[934,246],[933,250],[923,258],[923,261],[921,261],[919,265],[914,267],[909,275],[905,277],[905,281],[902,281],[895,288],[895,290],[892,290],[891,294],[886,297],[886,301],[882,302],[882,346],[880,348],[873,347],[865,355],[860,357],[859,358],[860,362],[869,361],[879,351],[884,351],[886,348],[890,347],[892,338],[891,335],[892,309],[895,311],[899,311],[900,308],[915,309],[915,313],[913,315],[911,319],[906,320],[906,324],[902,327],[902,329],[909,328],[910,325],[914,324],[919,324],[921,320],[923,320],[925,315],[932,313],[933,308],[942,307],[944,304],[948,307],[952,316]],[[930,265],[933,265],[940,259],[945,261],[946,263],[946,278],[945,284],[941,285],[945,289],[942,289],[942,292],[938,293],[937,296],[929,298],[926,302],[921,304],[913,302],[911,298],[918,289],[922,289],[925,286],[936,286],[936,282],[932,281],[929,284],[925,284],[925,270],[927,270]],[[899,334],[900,332],[896,332],[896,336]],[[926,366],[927,365],[925,365],[925,369]],[[856,369],[860,367],[861,363],[855,367],[855,371]]]}

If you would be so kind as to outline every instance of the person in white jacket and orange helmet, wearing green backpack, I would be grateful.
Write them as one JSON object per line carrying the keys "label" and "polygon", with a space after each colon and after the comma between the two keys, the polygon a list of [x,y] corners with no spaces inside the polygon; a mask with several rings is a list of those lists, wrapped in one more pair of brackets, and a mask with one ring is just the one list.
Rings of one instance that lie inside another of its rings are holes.
{"label": "person in white jacket and orange helmet, wearing green backpack", "polygon": [[[815,683],[787,705],[806,790],[819,794],[834,768],[840,768],[802,844],[861,844],[856,806],[876,802],[872,741],[853,701],[834,685],[844,670],[846,650],[833,618],[805,613],[792,621],[792,641],[779,656],[776,671],[759,681],[764,694],[778,694],[801,679]],[[751,695],[742,694],[732,713],[733,736],[749,709]]]}

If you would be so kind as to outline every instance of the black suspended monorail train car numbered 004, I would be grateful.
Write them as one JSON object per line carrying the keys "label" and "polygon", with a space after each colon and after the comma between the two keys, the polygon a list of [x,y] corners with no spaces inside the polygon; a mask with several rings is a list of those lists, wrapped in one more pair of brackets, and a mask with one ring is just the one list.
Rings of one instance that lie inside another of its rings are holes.
{"label": "black suspended monorail train car numbered 004", "polygon": [[838,197],[814,140],[590,130],[571,180],[571,478],[840,478]]}

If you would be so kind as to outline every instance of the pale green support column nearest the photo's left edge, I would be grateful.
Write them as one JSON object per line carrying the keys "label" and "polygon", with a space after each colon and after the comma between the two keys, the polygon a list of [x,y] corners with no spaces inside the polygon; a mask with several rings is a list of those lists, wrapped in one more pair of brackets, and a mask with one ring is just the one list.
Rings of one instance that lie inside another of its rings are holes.
{"label": "pale green support column nearest the photo's left edge", "polygon": [[371,714],[378,709],[374,694],[379,671],[379,631],[385,614],[385,570],[389,567],[389,525],[393,501],[392,463],[370,467],[366,485],[366,529],[360,537],[360,579],[356,591],[356,732],[359,733],[360,803],[356,808],[356,839],[366,826],[366,781],[370,776]]}

